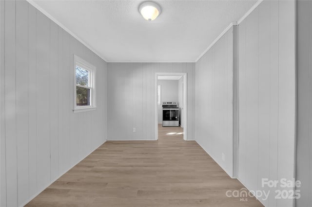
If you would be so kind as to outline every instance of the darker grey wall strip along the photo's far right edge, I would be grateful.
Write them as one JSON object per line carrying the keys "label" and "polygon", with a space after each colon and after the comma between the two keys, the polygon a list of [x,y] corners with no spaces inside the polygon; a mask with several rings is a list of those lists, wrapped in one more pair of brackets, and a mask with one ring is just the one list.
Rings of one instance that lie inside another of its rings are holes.
{"label": "darker grey wall strip along the photo's far right edge", "polygon": [[312,206],[312,1],[297,1],[296,207]]}

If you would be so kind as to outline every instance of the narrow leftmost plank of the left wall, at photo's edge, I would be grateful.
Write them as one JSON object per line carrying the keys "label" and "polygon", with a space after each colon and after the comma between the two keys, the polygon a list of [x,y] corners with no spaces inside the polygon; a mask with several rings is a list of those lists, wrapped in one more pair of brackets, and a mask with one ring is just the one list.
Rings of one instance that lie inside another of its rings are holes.
{"label": "narrow leftmost plank of the left wall, at photo's edge", "polygon": [[0,206],[6,206],[5,105],[4,105],[4,5],[0,1]]}

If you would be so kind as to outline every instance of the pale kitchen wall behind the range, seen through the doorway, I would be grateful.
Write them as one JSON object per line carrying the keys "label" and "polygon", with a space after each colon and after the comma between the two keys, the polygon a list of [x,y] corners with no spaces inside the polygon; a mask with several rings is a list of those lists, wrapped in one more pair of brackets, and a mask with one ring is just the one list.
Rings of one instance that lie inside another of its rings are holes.
{"label": "pale kitchen wall behind the range, seen through the doorway", "polygon": [[[158,80],[161,85],[161,102],[178,103],[178,80]],[[162,123],[162,106],[157,105],[158,123]]]}

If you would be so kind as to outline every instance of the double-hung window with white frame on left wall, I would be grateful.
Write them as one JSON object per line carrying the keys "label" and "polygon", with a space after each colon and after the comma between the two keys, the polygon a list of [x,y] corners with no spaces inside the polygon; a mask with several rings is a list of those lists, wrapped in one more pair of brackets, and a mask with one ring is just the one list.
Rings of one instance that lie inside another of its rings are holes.
{"label": "double-hung window with white frame on left wall", "polygon": [[96,108],[96,67],[74,55],[74,112]]}

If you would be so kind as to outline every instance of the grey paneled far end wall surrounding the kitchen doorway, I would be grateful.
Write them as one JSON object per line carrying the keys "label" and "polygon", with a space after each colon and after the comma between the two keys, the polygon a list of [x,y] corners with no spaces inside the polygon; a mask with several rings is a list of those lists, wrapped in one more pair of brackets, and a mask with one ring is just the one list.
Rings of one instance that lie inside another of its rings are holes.
{"label": "grey paneled far end wall surrounding the kitchen doorway", "polygon": [[156,72],[187,73],[187,138],[194,139],[194,63],[108,63],[108,139],[155,140]]}

